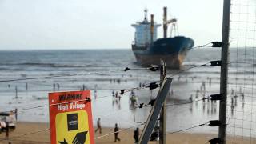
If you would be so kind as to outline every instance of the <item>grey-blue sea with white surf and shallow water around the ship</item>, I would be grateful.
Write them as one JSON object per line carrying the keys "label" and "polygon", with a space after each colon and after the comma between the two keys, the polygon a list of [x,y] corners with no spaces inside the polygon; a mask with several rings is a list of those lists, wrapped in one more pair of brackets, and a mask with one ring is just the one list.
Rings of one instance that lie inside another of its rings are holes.
{"label": "grey-blue sea with white surf and shallow water around the ship", "polygon": [[[246,94],[245,87],[254,85],[251,81],[254,80],[254,62],[250,63],[254,59],[254,50],[248,50],[230,50],[229,109],[234,94]],[[246,54],[241,54],[243,52],[248,55],[245,57]],[[239,58],[241,61],[238,62]],[[199,65],[220,59],[221,50],[218,48],[194,49],[187,54],[181,73],[177,74],[180,70],[167,70],[168,77],[176,74],[172,77],[174,80],[167,97],[167,131],[182,130],[218,119],[218,102],[200,99],[219,94],[220,67],[210,66],[209,63]],[[112,97],[112,91],[130,90],[159,80],[158,71],[142,70],[136,64],[131,50],[3,50],[0,51],[0,60],[0,81],[76,74],[0,82],[0,111],[42,106],[18,111],[18,121],[25,122],[49,122],[48,93],[81,90],[84,86],[91,90],[94,124],[101,118],[102,126],[111,127],[114,123],[120,127],[134,126],[138,122],[146,122],[150,107],[130,110],[133,108],[129,100],[130,92],[122,95],[119,102]],[[126,67],[137,70],[125,72]],[[140,89],[134,90],[134,93],[138,103],[148,103],[158,90]],[[191,100],[198,102],[188,103]],[[251,103],[251,99],[238,97],[235,101],[233,110],[250,111],[250,106],[244,103]],[[234,116],[234,111],[231,114],[231,110],[227,113],[229,122],[238,116]],[[188,132],[217,134],[218,127],[200,126]]]}

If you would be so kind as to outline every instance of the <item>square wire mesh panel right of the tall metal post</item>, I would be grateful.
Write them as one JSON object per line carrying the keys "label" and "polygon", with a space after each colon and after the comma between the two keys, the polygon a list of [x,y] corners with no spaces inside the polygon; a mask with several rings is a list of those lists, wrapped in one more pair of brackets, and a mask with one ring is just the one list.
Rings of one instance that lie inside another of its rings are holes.
{"label": "square wire mesh panel right of the tall metal post", "polygon": [[256,2],[232,0],[227,143],[256,143],[255,58]]}

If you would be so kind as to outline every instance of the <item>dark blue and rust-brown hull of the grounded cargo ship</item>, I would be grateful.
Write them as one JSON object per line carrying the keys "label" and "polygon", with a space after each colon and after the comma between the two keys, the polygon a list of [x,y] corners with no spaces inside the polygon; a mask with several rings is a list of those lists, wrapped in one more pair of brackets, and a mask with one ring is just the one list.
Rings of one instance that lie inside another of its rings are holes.
{"label": "dark blue and rust-brown hull of the grounded cargo ship", "polygon": [[162,59],[171,69],[180,69],[187,52],[194,46],[191,38],[161,38],[150,46],[136,47],[133,51],[138,64],[142,66],[159,65]]}

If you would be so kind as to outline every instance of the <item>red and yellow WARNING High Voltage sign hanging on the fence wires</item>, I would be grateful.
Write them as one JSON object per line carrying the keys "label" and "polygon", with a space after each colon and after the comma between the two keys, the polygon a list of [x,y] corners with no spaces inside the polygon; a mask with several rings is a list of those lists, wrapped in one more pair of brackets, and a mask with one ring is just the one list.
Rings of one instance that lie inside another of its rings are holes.
{"label": "red and yellow WARNING High Voltage sign hanging on the fence wires", "polygon": [[50,142],[94,144],[90,90],[49,94]]}

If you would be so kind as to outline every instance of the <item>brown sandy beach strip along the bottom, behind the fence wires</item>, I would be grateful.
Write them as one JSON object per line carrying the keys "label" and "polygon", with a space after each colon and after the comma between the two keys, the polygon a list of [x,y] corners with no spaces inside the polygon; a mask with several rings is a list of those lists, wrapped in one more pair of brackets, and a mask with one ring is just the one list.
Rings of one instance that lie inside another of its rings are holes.
{"label": "brown sandy beach strip along the bottom, behind the fence wires", "polygon": [[[48,123],[38,123],[38,122],[18,122],[17,127],[14,131],[10,132],[10,136],[8,140],[2,140],[2,138],[5,138],[6,133],[2,132],[0,134],[0,143],[8,143],[11,142],[12,144],[36,144],[36,143],[50,143],[50,134],[49,130],[46,130],[49,128]],[[33,133],[34,131],[38,130],[45,130],[40,133],[36,134],[28,134]],[[122,129],[121,129],[122,130]],[[142,131],[142,130],[140,130]],[[113,128],[103,128],[102,134],[95,134],[95,138],[98,136],[109,134],[113,132]],[[27,135],[25,135],[27,134]],[[124,130],[119,133],[119,138],[121,138],[121,142],[116,143],[134,143],[134,129],[130,130]],[[18,137],[22,135],[22,137]],[[216,135],[214,134],[190,134],[190,133],[176,133],[176,134],[169,134],[167,135],[167,143],[184,143],[184,144],[198,144],[198,143],[206,143],[209,139],[215,138]],[[243,138],[243,142],[241,141],[241,138],[236,139],[230,139],[230,142],[233,143],[254,143],[256,142],[256,139],[252,139],[253,142],[250,142],[250,139]],[[110,144],[115,143],[114,142],[114,134],[110,134],[109,136],[97,138],[95,140],[95,143],[102,143],[102,144]],[[157,143],[157,142],[149,142],[149,143]]]}

